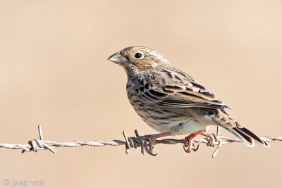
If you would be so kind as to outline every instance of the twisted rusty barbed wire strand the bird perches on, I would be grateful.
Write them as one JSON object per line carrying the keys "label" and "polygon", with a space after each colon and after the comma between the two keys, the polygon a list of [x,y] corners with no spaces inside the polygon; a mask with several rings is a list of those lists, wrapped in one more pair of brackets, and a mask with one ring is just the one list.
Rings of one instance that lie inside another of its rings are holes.
{"label": "twisted rusty barbed wire strand the bird perches on", "polygon": [[[73,142],[54,142],[54,141],[47,141],[43,139],[42,128],[38,125],[39,130],[39,138],[40,139],[32,139],[27,142],[27,144],[1,144],[0,148],[5,149],[21,149],[22,153],[25,151],[40,151],[40,150],[49,150],[52,153],[56,153],[54,150],[57,147],[78,147],[78,146],[121,146],[125,145],[125,152],[128,154],[129,149],[137,147],[141,148],[141,153],[144,154],[144,150],[147,153],[152,154],[152,151],[149,152],[147,148],[147,140],[142,139],[139,137],[137,130],[135,130],[136,137],[127,137],[126,133],[123,131],[123,137],[125,140],[112,140],[109,142],[106,141],[90,141],[90,142],[82,142],[82,141],[73,141]],[[221,146],[225,144],[231,144],[233,142],[241,142],[239,139],[225,137],[219,135],[219,127],[217,128],[216,134],[202,134],[204,138],[202,139],[193,139],[193,146],[197,148],[199,144],[207,144],[207,146],[216,146],[216,150],[214,151],[212,158],[215,158],[216,153],[219,151]],[[282,137],[260,137],[264,140],[264,142],[273,142],[273,141],[282,141]],[[161,139],[156,140],[154,145],[157,144],[186,144],[187,140],[185,139]],[[184,147],[184,146],[183,146]]]}

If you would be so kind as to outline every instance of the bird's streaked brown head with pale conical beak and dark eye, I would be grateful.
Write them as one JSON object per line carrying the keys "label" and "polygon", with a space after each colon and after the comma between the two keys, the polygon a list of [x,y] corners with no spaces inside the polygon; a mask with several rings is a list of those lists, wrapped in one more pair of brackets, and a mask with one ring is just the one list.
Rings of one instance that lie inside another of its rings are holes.
{"label": "bird's streaked brown head with pale conical beak and dark eye", "polygon": [[144,46],[127,47],[111,55],[108,60],[123,66],[128,77],[146,70],[173,67],[157,51]]}

